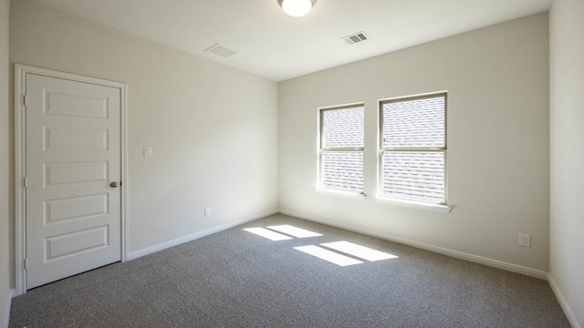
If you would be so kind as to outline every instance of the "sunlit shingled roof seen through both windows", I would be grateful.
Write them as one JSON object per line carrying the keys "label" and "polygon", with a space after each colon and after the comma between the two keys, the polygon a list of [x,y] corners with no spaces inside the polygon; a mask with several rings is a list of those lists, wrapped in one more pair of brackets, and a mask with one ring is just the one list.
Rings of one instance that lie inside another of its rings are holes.
{"label": "sunlit shingled roof seen through both windows", "polygon": [[[422,97],[382,104],[381,196],[441,203],[444,152],[401,151],[445,147],[445,97]],[[363,192],[364,108],[322,112],[322,186]],[[349,150],[350,149],[350,150]]]}

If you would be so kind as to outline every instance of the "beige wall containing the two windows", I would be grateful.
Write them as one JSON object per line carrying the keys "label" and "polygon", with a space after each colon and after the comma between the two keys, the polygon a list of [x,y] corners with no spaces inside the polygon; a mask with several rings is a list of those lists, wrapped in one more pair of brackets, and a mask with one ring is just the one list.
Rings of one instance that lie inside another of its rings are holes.
{"label": "beige wall containing the two windows", "polygon": [[[545,276],[547,32],[547,13],[531,15],[281,82],[280,209]],[[454,210],[376,202],[377,100],[439,90],[449,97],[448,198]],[[365,200],[315,190],[317,108],[354,102],[365,103]],[[519,247],[519,233],[531,234],[531,248]]]}

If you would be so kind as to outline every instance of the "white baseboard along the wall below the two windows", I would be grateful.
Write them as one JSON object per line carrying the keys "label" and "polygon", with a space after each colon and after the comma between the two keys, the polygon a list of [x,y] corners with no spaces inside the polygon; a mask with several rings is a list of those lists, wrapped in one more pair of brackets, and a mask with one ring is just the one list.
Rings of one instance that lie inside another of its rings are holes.
{"label": "white baseboard along the wall below the two windows", "polygon": [[372,236],[372,237],[376,237],[376,238],[379,238],[382,240],[401,243],[401,244],[412,246],[415,248],[419,248],[419,249],[422,249],[425,251],[433,251],[433,252],[436,252],[439,254],[448,255],[448,256],[451,256],[451,257],[454,257],[457,259],[461,259],[461,260],[465,260],[465,261],[472,261],[475,263],[484,264],[486,266],[494,267],[497,269],[502,269],[502,270],[505,270],[508,272],[521,273],[521,274],[525,274],[525,275],[530,276],[530,277],[534,277],[534,278],[538,278],[538,279],[542,279],[542,280],[547,280],[547,272],[544,272],[541,270],[531,269],[531,268],[527,268],[527,267],[524,267],[521,265],[507,263],[505,261],[497,261],[497,260],[485,258],[482,256],[468,254],[468,253],[465,253],[462,251],[454,251],[454,250],[450,250],[450,249],[445,249],[443,247],[433,246],[433,245],[426,244],[426,243],[419,242],[419,241],[412,241],[412,240],[408,240],[408,239],[404,239],[404,238],[392,237],[392,236],[388,236],[388,235],[379,233],[377,231],[360,229],[360,228],[350,226],[348,224],[342,224],[342,223],[338,223],[338,222],[335,222],[332,220],[326,220],[326,219],[317,218],[314,216],[308,216],[308,215],[297,213],[297,212],[294,212],[291,210],[281,210],[280,209],[279,212],[282,214],[287,214],[287,215],[296,217],[296,218],[311,220],[311,221],[315,221],[318,223],[323,223],[323,224],[337,227],[340,229],[344,229],[347,231],[359,232],[359,233],[362,233],[362,234],[365,234],[368,236]]}

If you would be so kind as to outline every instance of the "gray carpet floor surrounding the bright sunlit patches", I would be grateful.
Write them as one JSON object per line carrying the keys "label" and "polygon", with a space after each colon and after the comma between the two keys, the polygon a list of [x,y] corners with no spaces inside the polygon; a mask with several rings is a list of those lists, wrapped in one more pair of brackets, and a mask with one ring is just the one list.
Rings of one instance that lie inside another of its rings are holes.
{"label": "gray carpet floor surrounding the bright sunlit patches", "polygon": [[[244,228],[323,236],[270,241]],[[398,258],[341,267],[293,247]],[[13,299],[10,327],[569,327],[545,281],[276,214]]]}

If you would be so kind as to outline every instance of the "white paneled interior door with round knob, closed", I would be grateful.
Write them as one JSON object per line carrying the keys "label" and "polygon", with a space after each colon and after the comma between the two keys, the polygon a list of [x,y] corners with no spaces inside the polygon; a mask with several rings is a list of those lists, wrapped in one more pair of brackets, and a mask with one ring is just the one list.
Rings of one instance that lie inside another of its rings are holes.
{"label": "white paneled interior door with round knob, closed", "polygon": [[27,73],[25,99],[30,289],[121,260],[121,91]]}

